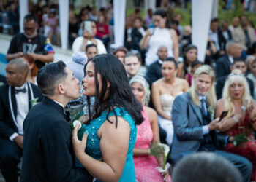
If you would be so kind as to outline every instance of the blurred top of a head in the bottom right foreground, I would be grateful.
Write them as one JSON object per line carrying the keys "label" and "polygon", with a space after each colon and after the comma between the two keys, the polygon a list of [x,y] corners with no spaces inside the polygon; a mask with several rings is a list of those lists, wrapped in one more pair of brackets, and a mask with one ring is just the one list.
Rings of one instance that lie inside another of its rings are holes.
{"label": "blurred top of a head in the bottom right foreground", "polygon": [[181,159],[174,167],[173,182],[241,182],[238,169],[212,152],[197,152]]}

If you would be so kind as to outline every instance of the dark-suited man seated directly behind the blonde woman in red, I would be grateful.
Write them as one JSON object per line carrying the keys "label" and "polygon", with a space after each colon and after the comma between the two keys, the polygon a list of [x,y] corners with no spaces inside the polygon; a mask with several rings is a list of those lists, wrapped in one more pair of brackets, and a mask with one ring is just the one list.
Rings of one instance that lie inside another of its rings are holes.
{"label": "dark-suited man seated directly behind the blonde woman in red", "polygon": [[[247,66],[243,58],[234,58],[233,59],[233,64],[230,66],[230,70],[233,69],[239,69],[241,70],[241,74],[246,74]],[[219,79],[217,79],[217,84],[216,84],[216,95],[217,99],[222,98],[222,90],[225,84],[227,76],[222,76]],[[254,84],[251,79],[246,78],[246,81],[249,84],[249,92],[253,96],[254,92]]]}

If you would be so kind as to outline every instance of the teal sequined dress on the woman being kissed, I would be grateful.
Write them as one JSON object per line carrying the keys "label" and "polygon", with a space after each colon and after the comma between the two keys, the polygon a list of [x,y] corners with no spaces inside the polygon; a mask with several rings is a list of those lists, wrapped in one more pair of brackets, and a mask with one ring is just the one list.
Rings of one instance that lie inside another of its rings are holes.
{"label": "teal sequined dress on the woman being kissed", "polygon": [[[132,150],[135,146],[136,141],[136,135],[137,135],[137,129],[134,120],[132,119],[132,116],[129,115],[127,110],[125,108],[115,108],[116,115],[122,117],[124,120],[126,120],[129,123],[130,126],[130,135],[129,135],[129,148],[127,152],[127,159],[124,165],[124,170],[121,175],[121,178],[118,181],[135,181],[135,167],[132,159]],[[90,122],[90,124],[83,124],[82,127],[89,131],[89,135],[87,138],[86,143],[86,154],[89,154],[89,156],[93,157],[94,159],[100,159],[102,158],[102,153],[100,151],[99,142],[100,139],[97,135],[97,132],[99,130],[99,127],[102,126],[102,124],[107,120],[107,114],[108,111],[103,111],[102,115],[99,116],[97,119],[94,119]],[[114,116],[114,112],[110,111],[110,116]],[[106,121],[108,122],[108,121]],[[119,122],[119,121],[118,121]],[[83,167],[79,164],[79,162],[76,162],[77,167]]]}

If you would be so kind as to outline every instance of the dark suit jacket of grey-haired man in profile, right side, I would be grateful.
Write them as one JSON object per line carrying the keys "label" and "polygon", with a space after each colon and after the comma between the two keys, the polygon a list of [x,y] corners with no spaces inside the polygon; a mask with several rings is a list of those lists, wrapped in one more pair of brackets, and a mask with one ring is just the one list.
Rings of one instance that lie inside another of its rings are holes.
{"label": "dark suit jacket of grey-haired man in profile, right side", "polygon": [[231,73],[230,71],[230,60],[228,59],[227,55],[222,56],[216,62],[216,76],[219,79],[222,76],[227,76]]}

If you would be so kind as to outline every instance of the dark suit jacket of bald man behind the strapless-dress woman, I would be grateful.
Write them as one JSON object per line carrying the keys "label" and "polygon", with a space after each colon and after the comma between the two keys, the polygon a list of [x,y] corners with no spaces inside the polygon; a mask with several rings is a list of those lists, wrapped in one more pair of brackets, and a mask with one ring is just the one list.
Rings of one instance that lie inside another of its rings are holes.
{"label": "dark suit jacket of bald man behind the strapless-dress woman", "polygon": [[162,78],[162,65],[157,61],[148,66],[146,77],[149,85]]}

